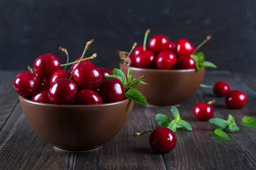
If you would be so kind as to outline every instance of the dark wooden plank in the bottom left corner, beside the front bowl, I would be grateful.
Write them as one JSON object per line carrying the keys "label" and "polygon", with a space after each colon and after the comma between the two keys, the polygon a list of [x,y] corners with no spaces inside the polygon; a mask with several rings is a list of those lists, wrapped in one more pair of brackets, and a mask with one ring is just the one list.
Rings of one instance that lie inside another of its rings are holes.
{"label": "dark wooden plank in the bottom left corner, beside the front bowl", "polygon": [[42,140],[18,104],[0,132],[0,169],[64,170],[72,169],[73,153],[54,150]]}

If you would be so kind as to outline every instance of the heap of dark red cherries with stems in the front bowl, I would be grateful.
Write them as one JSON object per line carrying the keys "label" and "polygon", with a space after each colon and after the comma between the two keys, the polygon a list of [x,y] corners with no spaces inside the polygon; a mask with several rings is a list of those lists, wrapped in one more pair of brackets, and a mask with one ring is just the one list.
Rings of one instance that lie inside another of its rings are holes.
{"label": "heap of dark red cherries with stems in the front bowl", "polygon": [[[93,40],[87,42],[87,48],[91,42]],[[17,94],[34,102],[57,105],[96,105],[124,100],[122,82],[105,77],[113,74],[113,70],[97,68],[90,60],[96,54],[89,58],[83,56],[61,65],[54,54],[41,55],[35,59],[34,71],[30,68],[31,72],[16,76]],[[61,66],[71,64],[70,71],[61,70]]]}

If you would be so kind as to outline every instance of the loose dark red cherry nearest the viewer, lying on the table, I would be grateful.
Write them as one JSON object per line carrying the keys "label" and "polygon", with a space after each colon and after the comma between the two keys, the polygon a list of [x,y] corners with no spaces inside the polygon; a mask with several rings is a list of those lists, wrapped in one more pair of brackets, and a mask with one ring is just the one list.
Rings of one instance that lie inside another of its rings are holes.
{"label": "loose dark red cherry nearest the viewer, lying on the table", "polygon": [[175,133],[166,127],[153,130],[149,136],[149,144],[157,153],[167,153],[176,146],[177,140]]}

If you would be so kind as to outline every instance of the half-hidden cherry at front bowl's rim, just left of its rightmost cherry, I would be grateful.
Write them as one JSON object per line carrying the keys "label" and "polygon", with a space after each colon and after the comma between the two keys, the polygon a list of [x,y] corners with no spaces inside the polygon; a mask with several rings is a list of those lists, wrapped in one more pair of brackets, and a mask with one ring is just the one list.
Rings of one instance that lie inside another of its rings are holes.
{"label": "half-hidden cherry at front bowl's rim, just left of its rightmost cherry", "polygon": [[101,96],[92,90],[83,89],[76,94],[76,103],[78,105],[96,105],[102,104]]}

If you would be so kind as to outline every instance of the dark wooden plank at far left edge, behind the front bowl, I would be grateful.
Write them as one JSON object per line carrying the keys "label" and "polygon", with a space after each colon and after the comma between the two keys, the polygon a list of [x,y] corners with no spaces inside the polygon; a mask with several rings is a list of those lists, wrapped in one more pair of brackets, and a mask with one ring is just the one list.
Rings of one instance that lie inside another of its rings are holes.
{"label": "dark wooden plank at far left edge, behind the front bowl", "polygon": [[18,95],[13,87],[13,80],[19,71],[0,70],[0,130],[18,102]]}

